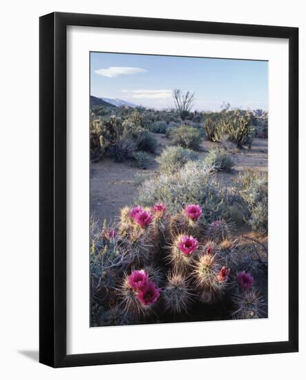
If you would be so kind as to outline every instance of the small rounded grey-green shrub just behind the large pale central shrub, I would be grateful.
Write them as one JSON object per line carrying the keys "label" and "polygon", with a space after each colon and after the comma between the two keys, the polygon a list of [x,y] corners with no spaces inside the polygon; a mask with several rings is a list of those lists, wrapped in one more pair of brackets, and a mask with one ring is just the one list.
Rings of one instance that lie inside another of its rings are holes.
{"label": "small rounded grey-green shrub just behind the large pale central shrub", "polygon": [[198,160],[198,153],[182,146],[167,146],[155,160],[160,164],[160,172],[171,174],[184,166],[188,161]]}

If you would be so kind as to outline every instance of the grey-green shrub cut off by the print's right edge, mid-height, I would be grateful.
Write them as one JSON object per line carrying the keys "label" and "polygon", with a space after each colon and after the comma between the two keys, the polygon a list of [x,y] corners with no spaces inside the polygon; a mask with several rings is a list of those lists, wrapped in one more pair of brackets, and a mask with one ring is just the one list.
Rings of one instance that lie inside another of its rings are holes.
{"label": "grey-green shrub cut off by the print's right edge, mid-height", "polygon": [[233,180],[237,202],[245,210],[246,220],[252,229],[268,229],[268,177],[262,171],[247,170]]}

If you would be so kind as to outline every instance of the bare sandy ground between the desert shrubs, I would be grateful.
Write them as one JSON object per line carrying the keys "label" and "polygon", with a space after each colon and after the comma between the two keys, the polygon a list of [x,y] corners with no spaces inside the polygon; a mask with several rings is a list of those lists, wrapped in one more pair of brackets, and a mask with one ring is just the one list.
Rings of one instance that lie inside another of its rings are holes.
{"label": "bare sandy ground between the desert shrubs", "polygon": [[[164,146],[169,144],[165,135],[155,133],[158,141],[157,155]],[[200,151],[200,157],[204,158],[209,149],[216,144],[204,141]],[[254,140],[251,149],[233,149],[233,162],[235,167],[231,173],[218,173],[224,186],[231,184],[231,178],[238,175],[240,171],[247,168],[267,171],[267,140]],[[115,220],[120,208],[125,205],[133,205],[137,198],[137,187],[135,186],[135,175],[151,175],[158,172],[158,164],[152,160],[147,169],[135,167],[135,162],[114,162],[105,159],[90,165],[90,209],[95,217],[111,222]]]}

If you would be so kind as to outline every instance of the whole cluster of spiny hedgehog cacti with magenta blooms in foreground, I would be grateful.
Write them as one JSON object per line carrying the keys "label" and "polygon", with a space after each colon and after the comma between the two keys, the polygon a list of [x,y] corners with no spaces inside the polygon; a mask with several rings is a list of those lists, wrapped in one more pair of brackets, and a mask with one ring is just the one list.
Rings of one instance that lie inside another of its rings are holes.
{"label": "whole cluster of spiny hedgehog cacti with magenta blooms in foreground", "polygon": [[117,225],[100,236],[104,243],[97,247],[92,238],[90,251],[94,261],[101,256],[104,263],[94,293],[106,289],[101,305],[121,310],[131,323],[192,314],[193,305],[209,307],[224,299],[231,300],[233,319],[262,315],[254,277],[247,269],[238,271],[231,225],[206,222],[200,205],[185,205],[175,214],[161,202],[124,207]]}

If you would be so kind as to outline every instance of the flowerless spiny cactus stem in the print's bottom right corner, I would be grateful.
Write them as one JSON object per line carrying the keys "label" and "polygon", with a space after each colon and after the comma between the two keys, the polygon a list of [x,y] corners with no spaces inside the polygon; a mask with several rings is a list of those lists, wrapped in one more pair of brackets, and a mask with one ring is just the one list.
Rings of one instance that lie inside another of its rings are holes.
{"label": "flowerless spiny cactus stem in the print's bottom right corner", "polygon": [[256,289],[241,292],[233,298],[233,303],[236,308],[231,314],[233,319],[264,318],[267,314],[265,301]]}

